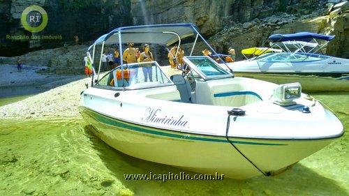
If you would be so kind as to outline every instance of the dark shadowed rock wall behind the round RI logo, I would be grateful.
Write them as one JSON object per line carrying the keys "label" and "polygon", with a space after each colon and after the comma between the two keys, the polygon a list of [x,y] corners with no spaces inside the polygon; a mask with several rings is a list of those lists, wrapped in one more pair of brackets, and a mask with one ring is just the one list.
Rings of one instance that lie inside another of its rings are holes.
{"label": "dark shadowed rock wall behind the round RI logo", "polygon": [[[34,35],[59,35],[61,40],[8,40],[6,35],[27,35],[20,22],[22,11],[31,5],[43,7],[48,15],[47,27]],[[86,42],[96,36],[132,22],[129,0],[1,0],[0,56],[72,44],[74,36]]]}

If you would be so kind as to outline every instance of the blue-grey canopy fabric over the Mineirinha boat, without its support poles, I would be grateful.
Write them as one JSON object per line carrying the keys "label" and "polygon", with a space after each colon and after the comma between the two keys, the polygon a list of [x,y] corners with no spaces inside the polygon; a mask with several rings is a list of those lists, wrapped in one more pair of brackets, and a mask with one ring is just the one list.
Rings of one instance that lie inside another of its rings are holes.
{"label": "blue-grey canopy fabric over the Mineirinha boat, without its support poles", "polygon": [[[195,24],[191,23],[119,27],[98,38],[94,42],[94,45],[101,44],[103,41],[105,44],[119,44],[120,40],[121,43],[155,43],[161,45],[172,45],[176,43],[179,38],[187,38],[196,33],[198,33],[198,28]],[[90,46],[89,49],[91,49],[92,46]]]}

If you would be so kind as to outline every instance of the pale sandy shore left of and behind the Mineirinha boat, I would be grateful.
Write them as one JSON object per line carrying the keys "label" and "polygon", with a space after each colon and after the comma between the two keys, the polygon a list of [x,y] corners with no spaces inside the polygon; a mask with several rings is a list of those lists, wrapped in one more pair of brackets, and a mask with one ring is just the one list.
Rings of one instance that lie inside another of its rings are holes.
{"label": "pale sandy shore left of and behind the Mineirinha boat", "polygon": [[[163,68],[168,75],[180,73],[171,69],[170,66]],[[67,80],[71,80],[71,78]],[[58,86],[19,102],[3,105],[0,107],[0,119],[77,116],[79,114],[77,106],[80,102],[80,93],[86,89],[86,82],[90,84],[91,78],[77,79],[75,82]],[[50,85],[50,83],[47,84]]]}

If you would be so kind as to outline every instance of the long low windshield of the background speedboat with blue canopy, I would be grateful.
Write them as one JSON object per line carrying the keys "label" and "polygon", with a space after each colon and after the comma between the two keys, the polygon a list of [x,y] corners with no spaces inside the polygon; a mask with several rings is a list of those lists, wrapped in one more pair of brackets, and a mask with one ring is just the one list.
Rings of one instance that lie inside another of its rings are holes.
{"label": "long low windshield of the background speedboat with blue canopy", "polygon": [[329,58],[329,56],[320,54],[280,52],[258,56],[257,58],[255,58],[255,60],[265,62],[306,62],[320,61],[327,58]]}

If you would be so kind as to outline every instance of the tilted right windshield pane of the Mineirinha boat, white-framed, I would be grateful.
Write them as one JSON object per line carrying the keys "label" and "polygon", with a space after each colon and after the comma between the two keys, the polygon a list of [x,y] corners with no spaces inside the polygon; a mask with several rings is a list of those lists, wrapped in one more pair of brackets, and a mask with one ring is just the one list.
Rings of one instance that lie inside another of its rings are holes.
{"label": "tilted right windshield pane of the Mineirinha boat, white-framed", "polygon": [[191,70],[198,73],[204,80],[221,79],[232,77],[233,75],[224,70],[218,63],[209,56],[184,56],[184,61]]}

